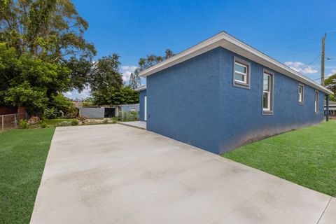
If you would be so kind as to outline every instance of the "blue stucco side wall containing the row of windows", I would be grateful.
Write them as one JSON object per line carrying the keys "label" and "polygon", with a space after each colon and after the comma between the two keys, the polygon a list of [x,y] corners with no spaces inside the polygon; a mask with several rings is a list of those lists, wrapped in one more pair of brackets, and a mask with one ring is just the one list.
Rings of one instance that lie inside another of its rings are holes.
{"label": "blue stucco side wall containing the row of windows", "polygon": [[[250,89],[233,86],[233,57],[251,63]],[[262,69],[265,66],[221,48],[221,104],[219,153],[230,151],[248,141],[323,121],[324,93],[319,92],[318,114],[314,109],[315,89],[304,85],[304,104],[298,103],[299,81],[274,72],[273,115],[262,115]],[[272,71],[272,69],[268,69]]]}

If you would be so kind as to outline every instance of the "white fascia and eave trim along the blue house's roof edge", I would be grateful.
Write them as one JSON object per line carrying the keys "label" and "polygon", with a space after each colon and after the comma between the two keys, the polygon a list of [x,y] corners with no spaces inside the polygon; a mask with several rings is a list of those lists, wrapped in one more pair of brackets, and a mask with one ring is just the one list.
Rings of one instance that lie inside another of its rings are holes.
{"label": "white fascia and eave trim along the blue house's roof edge", "polygon": [[220,46],[237,53],[237,55],[241,55],[243,57],[251,59],[251,61],[253,62],[257,62],[258,64],[262,64],[263,66],[267,66],[269,69],[272,69],[279,73],[283,73],[284,75],[289,76],[290,78],[293,78],[295,80],[298,80],[301,83],[314,87],[316,88],[316,90],[320,90],[325,94],[333,94],[330,90],[323,87],[322,85],[315,83],[313,80],[303,76],[301,73],[294,71],[293,69],[290,69],[288,66],[282,64],[281,62],[276,61],[272,57],[265,55],[259,50],[252,48],[250,45],[247,45],[246,43],[239,41],[237,38],[231,36],[230,34],[225,33],[224,31],[222,31],[219,34],[216,34],[215,36],[212,36],[206,41],[203,41],[197,45],[194,45],[191,48],[188,48],[187,50],[184,50],[183,52],[179,53],[178,55],[175,55],[174,57],[170,57],[169,59],[166,59],[165,61],[160,62],[159,64],[155,64],[155,66],[151,66],[149,69],[142,71],[139,74],[139,76],[142,77],[150,76],[153,73],[156,73],[163,69],[167,69],[170,66],[179,64],[181,62],[186,61],[187,59],[190,59],[197,55],[201,55],[204,52],[207,52],[214,48],[218,48]]}

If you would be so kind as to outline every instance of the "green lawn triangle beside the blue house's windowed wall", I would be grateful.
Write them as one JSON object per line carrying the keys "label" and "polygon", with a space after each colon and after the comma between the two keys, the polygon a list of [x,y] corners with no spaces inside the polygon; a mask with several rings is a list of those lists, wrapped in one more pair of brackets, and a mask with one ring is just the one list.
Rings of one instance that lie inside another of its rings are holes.
{"label": "green lawn triangle beside the blue house's windowed wall", "polygon": [[263,139],[222,156],[336,196],[335,120]]}

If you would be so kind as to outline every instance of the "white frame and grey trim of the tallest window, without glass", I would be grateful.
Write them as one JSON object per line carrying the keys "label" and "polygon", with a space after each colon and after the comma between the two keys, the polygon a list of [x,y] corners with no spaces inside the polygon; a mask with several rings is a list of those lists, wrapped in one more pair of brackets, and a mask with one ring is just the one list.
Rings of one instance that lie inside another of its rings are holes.
{"label": "white frame and grey trim of the tallest window, without glass", "polygon": [[[264,90],[264,76],[269,76],[269,90]],[[268,94],[267,108],[264,108],[264,93]],[[267,69],[262,69],[262,115],[272,115],[274,109],[274,73]]]}

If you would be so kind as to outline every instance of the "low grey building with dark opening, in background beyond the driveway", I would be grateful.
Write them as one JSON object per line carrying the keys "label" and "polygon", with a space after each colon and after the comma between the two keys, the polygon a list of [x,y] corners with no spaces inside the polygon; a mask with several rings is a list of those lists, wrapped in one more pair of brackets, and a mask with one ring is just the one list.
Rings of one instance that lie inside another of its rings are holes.
{"label": "low grey building with dark opening, in background beyond the driveway", "polygon": [[138,111],[139,104],[123,104],[116,106],[78,107],[79,115],[85,118],[113,118],[125,112]]}

